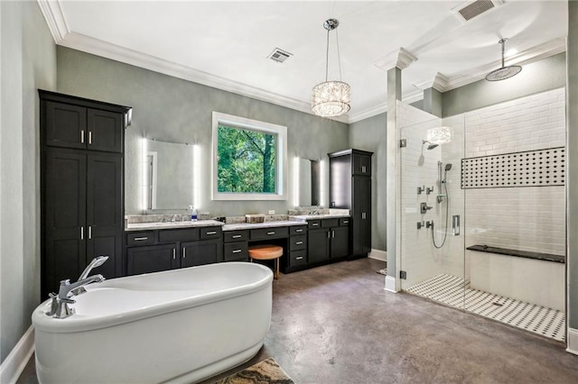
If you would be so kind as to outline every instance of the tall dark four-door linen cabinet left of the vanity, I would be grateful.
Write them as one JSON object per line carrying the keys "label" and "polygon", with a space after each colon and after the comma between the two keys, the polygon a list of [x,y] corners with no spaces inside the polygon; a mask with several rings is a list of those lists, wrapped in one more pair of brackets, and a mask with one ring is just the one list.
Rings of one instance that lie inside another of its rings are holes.
{"label": "tall dark four-door linen cabinet left of the vanity", "polygon": [[41,295],[93,272],[123,275],[124,148],[131,108],[39,90]]}

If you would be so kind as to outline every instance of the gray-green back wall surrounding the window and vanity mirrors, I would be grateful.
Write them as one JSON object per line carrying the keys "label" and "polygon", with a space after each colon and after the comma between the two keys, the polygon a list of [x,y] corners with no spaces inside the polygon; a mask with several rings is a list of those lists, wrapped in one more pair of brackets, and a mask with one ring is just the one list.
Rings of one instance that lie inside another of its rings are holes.
{"label": "gray-green back wall surrounding the window and vanity mirrors", "polygon": [[[126,131],[126,214],[138,214],[139,139],[146,137],[165,142],[200,145],[203,166],[200,179],[200,212],[211,215],[286,214],[294,207],[292,171],[295,156],[327,160],[327,153],[349,146],[349,126],[269,104],[246,96],[172,78],[147,69],[103,59],[78,50],[58,47],[58,90],[133,109],[133,125]],[[289,188],[287,201],[211,201],[210,149],[211,113],[234,114],[287,127]],[[325,175],[328,162],[324,162]],[[326,183],[327,184],[327,181]],[[324,187],[327,204],[328,190]],[[187,208],[187,206],[182,207]],[[186,212],[186,211],[183,211]]]}

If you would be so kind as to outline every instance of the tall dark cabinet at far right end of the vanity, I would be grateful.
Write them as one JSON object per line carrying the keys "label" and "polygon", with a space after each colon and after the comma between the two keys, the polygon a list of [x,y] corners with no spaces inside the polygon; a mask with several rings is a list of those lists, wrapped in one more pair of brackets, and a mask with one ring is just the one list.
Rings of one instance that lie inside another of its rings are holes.
{"label": "tall dark cabinet at far right end of the vanity", "polygon": [[350,256],[371,251],[371,156],[373,152],[329,153],[330,207],[350,209]]}

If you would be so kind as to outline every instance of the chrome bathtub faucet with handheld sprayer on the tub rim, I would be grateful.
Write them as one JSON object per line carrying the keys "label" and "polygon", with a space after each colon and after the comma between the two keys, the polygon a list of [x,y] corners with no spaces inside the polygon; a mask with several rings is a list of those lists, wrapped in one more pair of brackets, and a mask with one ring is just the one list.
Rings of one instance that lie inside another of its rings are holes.
{"label": "chrome bathtub faucet with handheld sprayer on the tub rim", "polygon": [[98,256],[97,258],[94,258],[90,261],[87,268],[82,271],[79,280],[74,283],[70,283],[70,279],[61,280],[61,287],[59,288],[58,295],[54,293],[49,295],[52,299],[51,309],[46,312],[46,315],[61,319],[74,315],[74,308],[70,308],[69,304],[74,304],[76,301],[70,297],[78,296],[86,292],[84,286],[104,281],[105,278],[100,274],[89,277],[87,276],[89,275],[90,270],[97,268],[107,260],[108,256]]}

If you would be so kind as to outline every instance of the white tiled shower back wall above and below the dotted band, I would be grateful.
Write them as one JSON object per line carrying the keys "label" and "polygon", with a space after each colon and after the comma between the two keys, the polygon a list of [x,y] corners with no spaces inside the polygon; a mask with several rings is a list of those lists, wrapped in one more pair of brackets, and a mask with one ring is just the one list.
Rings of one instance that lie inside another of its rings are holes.
{"label": "white tiled shower back wall above and below the dotted band", "polygon": [[[465,157],[564,147],[564,88],[465,114]],[[564,255],[564,186],[466,189],[466,246]]]}

